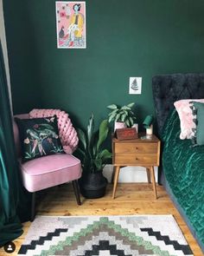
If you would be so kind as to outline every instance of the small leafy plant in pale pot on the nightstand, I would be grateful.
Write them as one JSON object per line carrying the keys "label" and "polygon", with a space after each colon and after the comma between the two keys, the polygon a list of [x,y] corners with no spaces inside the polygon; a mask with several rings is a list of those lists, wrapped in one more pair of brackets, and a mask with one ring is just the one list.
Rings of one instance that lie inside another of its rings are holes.
{"label": "small leafy plant in pale pot on the nightstand", "polygon": [[[114,130],[116,128],[130,128],[136,121],[136,116],[132,111],[132,107],[134,106],[134,102],[131,102],[128,105],[124,105],[123,107],[118,107],[116,104],[112,104],[107,106],[107,108],[111,109],[111,113],[108,115],[108,121],[114,121]],[[122,123],[122,124],[121,124]]]}

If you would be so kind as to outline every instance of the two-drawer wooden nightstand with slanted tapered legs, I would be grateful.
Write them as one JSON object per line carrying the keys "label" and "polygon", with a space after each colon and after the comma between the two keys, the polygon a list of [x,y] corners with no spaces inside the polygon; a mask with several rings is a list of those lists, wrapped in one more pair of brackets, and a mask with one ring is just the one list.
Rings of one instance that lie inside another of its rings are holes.
{"label": "two-drawer wooden nightstand with slanted tapered legs", "polygon": [[114,167],[112,199],[115,198],[120,167],[125,166],[146,167],[148,182],[150,183],[151,176],[152,187],[155,198],[157,198],[154,166],[159,166],[160,141],[155,135],[152,135],[150,140],[143,140],[142,136],[138,135],[136,140],[125,141],[112,138],[112,164]]}

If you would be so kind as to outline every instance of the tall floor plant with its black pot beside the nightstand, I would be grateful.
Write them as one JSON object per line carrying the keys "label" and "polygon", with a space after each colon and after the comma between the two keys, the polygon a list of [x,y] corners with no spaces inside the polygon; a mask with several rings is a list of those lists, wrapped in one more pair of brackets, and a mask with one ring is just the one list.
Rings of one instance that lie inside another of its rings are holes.
{"label": "tall floor plant with its black pot beside the nightstand", "polygon": [[78,153],[83,168],[80,192],[86,198],[99,198],[105,195],[107,180],[103,175],[103,168],[112,158],[112,153],[104,148],[108,131],[107,120],[101,121],[99,130],[94,130],[93,115],[89,119],[86,131],[78,128]]}

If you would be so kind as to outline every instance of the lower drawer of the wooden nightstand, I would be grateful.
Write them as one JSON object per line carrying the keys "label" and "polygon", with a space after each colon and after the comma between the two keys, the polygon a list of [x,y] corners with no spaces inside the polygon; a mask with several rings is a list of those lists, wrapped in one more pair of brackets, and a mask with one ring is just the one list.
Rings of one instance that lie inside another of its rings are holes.
{"label": "lower drawer of the wooden nightstand", "polygon": [[114,164],[156,166],[157,154],[115,154]]}

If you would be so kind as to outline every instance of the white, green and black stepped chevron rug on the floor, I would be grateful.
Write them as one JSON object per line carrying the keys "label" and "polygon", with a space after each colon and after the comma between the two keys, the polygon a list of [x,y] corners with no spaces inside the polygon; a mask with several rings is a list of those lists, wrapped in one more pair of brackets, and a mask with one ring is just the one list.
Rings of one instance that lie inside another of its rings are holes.
{"label": "white, green and black stepped chevron rug on the floor", "polygon": [[36,216],[18,255],[193,255],[172,215]]}

